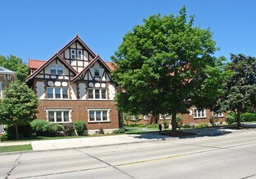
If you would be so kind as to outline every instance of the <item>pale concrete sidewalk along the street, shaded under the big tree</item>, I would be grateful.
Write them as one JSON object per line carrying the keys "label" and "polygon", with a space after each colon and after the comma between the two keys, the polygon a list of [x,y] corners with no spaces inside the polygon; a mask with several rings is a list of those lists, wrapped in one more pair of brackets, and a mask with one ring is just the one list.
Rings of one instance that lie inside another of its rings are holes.
{"label": "pale concrete sidewalk along the street, shaded under the big tree", "polygon": [[[254,129],[255,130],[255,129]],[[241,130],[236,129],[220,129],[220,128],[207,128],[207,129],[186,129],[189,133],[195,133],[195,136],[187,138],[198,137],[212,137],[225,135]],[[177,140],[178,138],[159,135],[155,133],[139,133],[139,134],[124,134],[115,136],[99,136],[99,137],[85,137],[85,138],[69,138],[58,140],[45,140],[45,141],[31,141],[31,142],[0,142],[0,146],[15,146],[25,145],[31,143],[33,151],[48,151],[58,149],[74,149],[80,147],[92,146],[109,146],[119,145],[125,143],[138,143],[138,142],[155,142],[163,140]]]}

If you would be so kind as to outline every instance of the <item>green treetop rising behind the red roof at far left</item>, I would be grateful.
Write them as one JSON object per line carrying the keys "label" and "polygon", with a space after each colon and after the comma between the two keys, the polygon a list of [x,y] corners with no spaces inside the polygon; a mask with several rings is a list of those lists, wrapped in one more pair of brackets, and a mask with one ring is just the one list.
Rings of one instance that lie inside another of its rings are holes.
{"label": "green treetop rising behind the red roof at far left", "polygon": [[29,75],[29,69],[26,63],[15,55],[7,57],[0,55],[0,66],[16,72],[17,79],[20,81],[25,81],[26,77]]}

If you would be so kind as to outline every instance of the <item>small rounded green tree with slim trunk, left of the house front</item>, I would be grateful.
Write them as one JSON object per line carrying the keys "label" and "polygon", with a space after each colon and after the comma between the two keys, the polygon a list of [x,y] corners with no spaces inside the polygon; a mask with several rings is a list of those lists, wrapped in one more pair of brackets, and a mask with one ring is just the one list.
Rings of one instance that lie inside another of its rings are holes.
{"label": "small rounded green tree with slim trunk, left of the house front", "polygon": [[16,138],[19,138],[18,126],[34,120],[38,98],[28,85],[20,81],[11,83],[3,93],[0,99],[0,124],[14,125]]}

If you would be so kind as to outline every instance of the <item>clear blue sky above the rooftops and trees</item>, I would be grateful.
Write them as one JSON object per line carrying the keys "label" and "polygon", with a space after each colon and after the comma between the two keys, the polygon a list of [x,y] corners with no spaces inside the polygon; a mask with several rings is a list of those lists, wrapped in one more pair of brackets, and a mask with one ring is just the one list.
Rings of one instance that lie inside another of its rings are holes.
{"label": "clear blue sky above the rooftops and trees", "polygon": [[210,28],[221,48],[256,56],[256,1],[254,0],[8,0],[0,1],[0,55],[49,59],[78,33],[110,61],[125,33],[149,15],[174,14],[186,5],[195,26]]}

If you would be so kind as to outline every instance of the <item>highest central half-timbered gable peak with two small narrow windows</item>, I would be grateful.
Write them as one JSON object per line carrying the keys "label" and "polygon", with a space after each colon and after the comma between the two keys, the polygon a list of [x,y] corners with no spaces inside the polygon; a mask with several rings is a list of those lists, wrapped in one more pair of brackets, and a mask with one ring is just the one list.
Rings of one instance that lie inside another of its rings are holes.
{"label": "highest central half-timbered gable peak with two small narrow windows", "polygon": [[81,72],[83,68],[87,67],[88,63],[96,56],[79,36],[74,37],[58,54],[60,54],[66,62],[70,63],[77,72]]}

